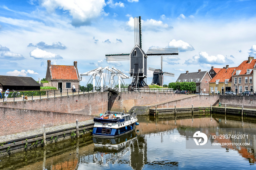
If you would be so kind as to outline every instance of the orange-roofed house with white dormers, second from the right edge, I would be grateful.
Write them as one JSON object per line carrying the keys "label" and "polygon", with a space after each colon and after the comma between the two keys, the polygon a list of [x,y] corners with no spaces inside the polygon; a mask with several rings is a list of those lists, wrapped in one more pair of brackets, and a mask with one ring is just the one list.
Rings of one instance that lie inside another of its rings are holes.
{"label": "orange-roofed house with white dormers, second from the right edge", "polygon": [[219,72],[212,78],[210,81],[210,92],[212,90],[214,93],[218,91],[221,94],[224,94],[226,91],[232,89],[232,75],[235,72],[237,67],[230,67],[226,65],[223,69],[219,70]]}

